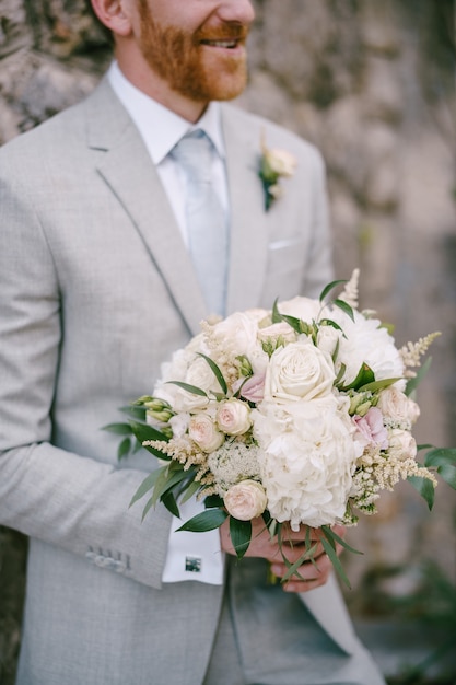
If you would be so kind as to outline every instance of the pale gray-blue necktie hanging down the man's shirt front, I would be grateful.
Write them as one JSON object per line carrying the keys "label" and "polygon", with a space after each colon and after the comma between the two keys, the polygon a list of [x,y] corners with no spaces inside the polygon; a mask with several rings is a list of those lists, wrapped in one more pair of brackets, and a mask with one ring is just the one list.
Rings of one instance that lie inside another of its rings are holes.
{"label": "pale gray-blue necktie hanging down the man's shirt front", "polygon": [[198,129],[172,151],[186,175],[188,248],[211,314],[225,314],[229,237],[225,212],[212,187],[212,142]]}

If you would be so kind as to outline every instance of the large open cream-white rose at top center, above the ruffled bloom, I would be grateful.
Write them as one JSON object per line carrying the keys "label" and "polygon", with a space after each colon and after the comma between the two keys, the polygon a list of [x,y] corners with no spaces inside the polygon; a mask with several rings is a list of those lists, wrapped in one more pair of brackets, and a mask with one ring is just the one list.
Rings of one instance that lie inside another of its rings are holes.
{"label": "large open cream-white rose at top center, above the ruffled bloom", "polygon": [[297,402],[324,397],[331,393],[335,379],[330,357],[304,338],[277,349],[271,356],[265,399]]}

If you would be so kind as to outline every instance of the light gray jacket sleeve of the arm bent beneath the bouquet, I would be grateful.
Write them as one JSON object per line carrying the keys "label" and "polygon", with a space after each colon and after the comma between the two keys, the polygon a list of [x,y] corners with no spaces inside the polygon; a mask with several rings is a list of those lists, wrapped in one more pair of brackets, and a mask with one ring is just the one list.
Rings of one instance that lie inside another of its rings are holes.
{"label": "light gray jacket sleeve of the arm bent beneath the bouquet", "polygon": [[26,189],[0,165],[0,523],[87,564],[110,550],[113,570],[160,588],[169,516],[128,509],[147,474],[51,444],[63,295]]}

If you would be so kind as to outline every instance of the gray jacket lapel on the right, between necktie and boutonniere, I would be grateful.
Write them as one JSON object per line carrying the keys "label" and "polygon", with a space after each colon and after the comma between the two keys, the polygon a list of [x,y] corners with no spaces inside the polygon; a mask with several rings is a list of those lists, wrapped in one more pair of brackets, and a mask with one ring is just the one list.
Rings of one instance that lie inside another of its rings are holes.
{"label": "gray jacket lapel on the right, between necktie and boutonniere", "polygon": [[260,132],[224,105],[222,127],[231,207],[229,313],[258,306],[266,276],[268,235],[258,178]]}

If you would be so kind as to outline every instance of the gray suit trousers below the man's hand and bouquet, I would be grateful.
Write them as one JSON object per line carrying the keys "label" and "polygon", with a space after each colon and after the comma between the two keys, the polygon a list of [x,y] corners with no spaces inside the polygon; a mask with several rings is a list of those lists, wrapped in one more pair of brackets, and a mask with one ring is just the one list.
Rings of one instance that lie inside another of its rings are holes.
{"label": "gray suit trousers below the man's hand and bouquet", "polygon": [[296,595],[267,585],[262,561],[231,572],[203,685],[385,685],[361,642],[347,654]]}

